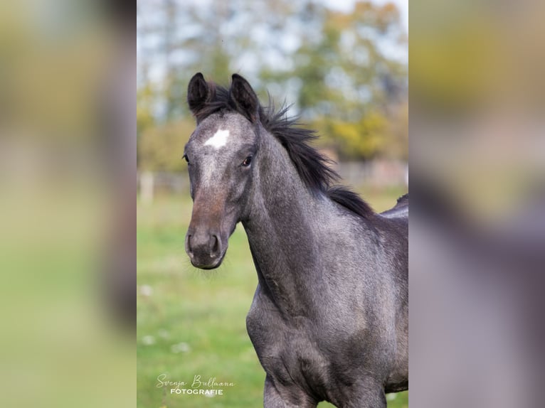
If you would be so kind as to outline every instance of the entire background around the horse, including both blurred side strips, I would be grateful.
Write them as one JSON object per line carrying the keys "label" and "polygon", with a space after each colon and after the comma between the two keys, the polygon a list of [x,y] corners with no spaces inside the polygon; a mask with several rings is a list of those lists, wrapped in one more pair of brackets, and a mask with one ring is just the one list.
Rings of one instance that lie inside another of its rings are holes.
{"label": "entire background around the horse, including both blurred side strips", "polygon": [[[238,5],[137,1],[135,27],[122,1],[0,2],[2,407],[259,406],[245,237],[213,274],[184,254],[175,166],[196,71],[293,104],[376,210],[406,190],[406,4]],[[543,405],[544,15],[542,1],[411,1],[414,407]],[[156,388],[196,370],[235,385],[223,399]]]}

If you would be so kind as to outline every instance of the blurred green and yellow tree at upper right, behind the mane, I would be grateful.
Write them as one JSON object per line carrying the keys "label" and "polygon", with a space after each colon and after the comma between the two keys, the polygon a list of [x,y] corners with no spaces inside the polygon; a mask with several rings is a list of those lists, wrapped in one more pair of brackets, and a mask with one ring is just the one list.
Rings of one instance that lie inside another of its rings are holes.
{"label": "blurred green and yellow tree at upper right, behind the mane", "polygon": [[407,42],[398,9],[390,3],[359,1],[348,14],[324,8],[313,15],[321,29],[302,41],[295,67],[264,70],[263,77],[277,82],[302,79],[298,107],[324,136],[322,143],[341,159],[406,156],[390,149],[406,139],[388,124],[398,119],[399,106],[407,100],[406,65],[384,47]]}

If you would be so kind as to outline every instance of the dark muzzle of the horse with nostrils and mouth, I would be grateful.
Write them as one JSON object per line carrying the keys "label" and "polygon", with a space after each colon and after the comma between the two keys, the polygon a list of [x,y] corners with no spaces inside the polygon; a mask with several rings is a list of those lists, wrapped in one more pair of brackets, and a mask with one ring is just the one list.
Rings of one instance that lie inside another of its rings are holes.
{"label": "dark muzzle of the horse with nostrils and mouth", "polygon": [[194,267],[214,269],[221,265],[227,247],[222,245],[218,232],[188,230],[186,234],[186,252]]}

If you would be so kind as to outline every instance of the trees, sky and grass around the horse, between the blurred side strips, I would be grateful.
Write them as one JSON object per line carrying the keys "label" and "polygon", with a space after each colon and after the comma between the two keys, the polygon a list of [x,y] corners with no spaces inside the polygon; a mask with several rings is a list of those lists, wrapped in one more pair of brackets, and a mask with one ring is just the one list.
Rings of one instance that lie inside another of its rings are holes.
{"label": "trees, sky and grass around the horse, between the blurred side strips", "polygon": [[[189,79],[228,86],[239,73],[263,104],[291,105],[344,183],[386,210],[408,190],[408,2],[140,0],[137,51],[137,406],[262,406],[265,373],[245,329],[257,276],[242,227],[216,271],[194,269],[184,251]],[[234,386],[171,395],[157,387],[162,374]],[[388,406],[407,407],[408,393]]]}

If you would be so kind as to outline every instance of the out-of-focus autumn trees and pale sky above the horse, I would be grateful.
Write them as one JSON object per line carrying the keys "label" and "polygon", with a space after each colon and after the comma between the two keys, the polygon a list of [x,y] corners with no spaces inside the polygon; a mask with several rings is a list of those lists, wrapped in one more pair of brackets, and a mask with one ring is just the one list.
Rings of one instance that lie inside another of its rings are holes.
{"label": "out-of-focus autumn trees and pale sky above the horse", "polygon": [[153,4],[138,4],[139,155],[151,155],[142,165],[176,168],[155,140],[175,143],[169,123],[189,118],[186,85],[198,71],[222,84],[240,73],[260,95],[293,102],[341,159],[406,158],[407,66],[394,54],[407,36],[394,4],[358,1],[349,13],[311,0]]}

